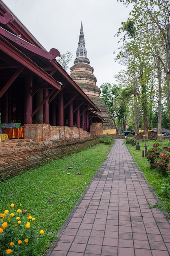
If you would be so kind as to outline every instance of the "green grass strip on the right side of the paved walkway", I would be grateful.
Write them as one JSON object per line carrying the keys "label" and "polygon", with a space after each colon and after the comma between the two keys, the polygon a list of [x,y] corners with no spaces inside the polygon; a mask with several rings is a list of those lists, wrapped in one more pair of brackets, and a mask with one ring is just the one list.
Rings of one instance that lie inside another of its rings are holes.
{"label": "green grass strip on the right side of the paved walkway", "polygon": [[[126,141],[124,141],[126,143]],[[146,178],[148,185],[155,193],[157,198],[163,204],[163,207],[170,213],[170,177],[163,173],[158,173],[156,168],[150,168],[150,163],[148,162],[147,157],[142,157],[142,150],[144,150],[144,145],[148,147],[148,149],[152,148],[154,143],[160,143],[160,141],[139,141],[140,150],[136,150],[135,146],[131,146],[131,144],[126,144],[128,150],[132,154],[134,161],[138,164],[141,169],[144,177]],[[161,148],[164,146],[170,146],[170,141],[162,140]],[[156,207],[162,207],[157,204]]]}

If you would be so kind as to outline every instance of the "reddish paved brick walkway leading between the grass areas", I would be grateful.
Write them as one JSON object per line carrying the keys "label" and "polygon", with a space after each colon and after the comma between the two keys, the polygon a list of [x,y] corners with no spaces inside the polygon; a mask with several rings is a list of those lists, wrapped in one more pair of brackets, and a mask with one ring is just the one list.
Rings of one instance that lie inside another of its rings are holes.
{"label": "reddish paved brick walkway leading between the grass areas", "polygon": [[50,256],[168,256],[170,224],[117,140]]}

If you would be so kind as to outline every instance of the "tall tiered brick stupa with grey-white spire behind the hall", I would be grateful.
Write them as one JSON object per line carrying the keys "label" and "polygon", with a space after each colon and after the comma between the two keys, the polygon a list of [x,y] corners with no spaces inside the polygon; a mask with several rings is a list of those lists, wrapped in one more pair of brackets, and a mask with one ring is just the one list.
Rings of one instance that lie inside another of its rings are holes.
{"label": "tall tiered brick stupa with grey-white spire behind the hall", "polygon": [[100,89],[97,87],[97,79],[93,74],[93,67],[90,66],[90,61],[87,58],[87,50],[85,47],[83,25],[81,24],[79,43],[76,52],[76,58],[71,70],[71,78],[79,85],[79,87],[84,91],[84,93],[93,101],[93,103],[101,110],[98,113],[103,121],[103,129],[115,129],[113,121],[110,117],[110,112],[108,106],[105,105],[104,101],[100,98]]}

